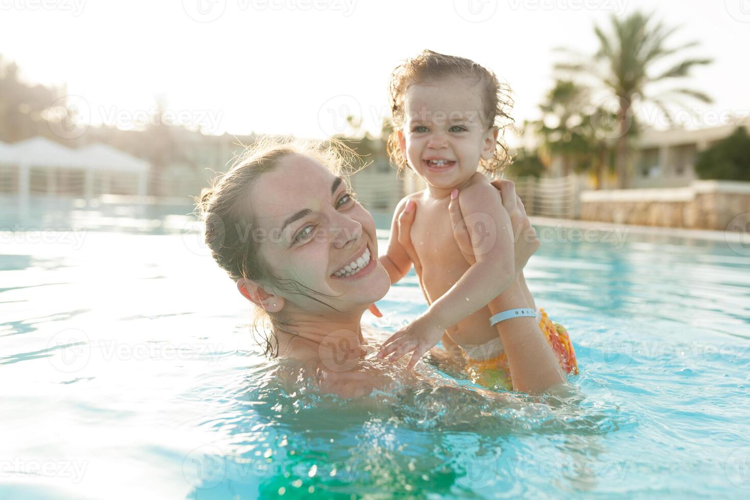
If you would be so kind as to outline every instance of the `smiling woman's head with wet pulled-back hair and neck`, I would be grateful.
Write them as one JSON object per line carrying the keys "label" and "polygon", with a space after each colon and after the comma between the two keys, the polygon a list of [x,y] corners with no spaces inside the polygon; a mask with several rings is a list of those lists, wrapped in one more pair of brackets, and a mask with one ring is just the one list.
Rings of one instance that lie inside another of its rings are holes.
{"label": "smiling woman's head with wet pulled-back hair and neck", "polygon": [[[352,309],[362,316],[388,291],[385,270],[369,259],[377,255],[374,221],[344,178],[356,161],[337,143],[263,139],[202,191],[206,244],[258,306],[254,330],[264,332],[267,354],[304,356],[296,347],[308,323],[311,335],[359,336]],[[329,314],[341,322],[314,328]]]}

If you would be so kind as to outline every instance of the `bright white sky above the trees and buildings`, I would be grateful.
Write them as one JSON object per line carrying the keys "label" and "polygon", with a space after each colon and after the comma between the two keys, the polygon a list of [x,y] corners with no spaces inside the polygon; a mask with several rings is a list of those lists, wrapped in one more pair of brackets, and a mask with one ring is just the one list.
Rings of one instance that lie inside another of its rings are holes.
{"label": "bright white sky above the trees and buildings", "polygon": [[67,82],[94,122],[127,127],[166,94],[175,120],[215,133],[323,137],[347,112],[378,130],[393,67],[425,48],[490,67],[517,122],[538,118],[553,47],[592,52],[595,22],[639,8],[715,58],[685,85],[714,97],[706,124],[750,113],[750,0],[0,0],[0,53]]}

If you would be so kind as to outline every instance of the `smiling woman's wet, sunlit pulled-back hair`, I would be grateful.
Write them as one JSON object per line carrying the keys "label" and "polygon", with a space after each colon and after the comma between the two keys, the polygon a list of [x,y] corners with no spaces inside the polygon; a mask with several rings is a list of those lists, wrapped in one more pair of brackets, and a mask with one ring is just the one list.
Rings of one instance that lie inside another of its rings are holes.
{"label": "smiling woman's wet, sunlit pulled-back hair", "polygon": [[[296,280],[278,277],[260,253],[260,241],[254,237],[257,223],[251,209],[251,186],[266,172],[275,170],[281,160],[292,154],[313,157],[335,175],[347,178],[361,167],[359,157],[336,140],[311,141],[293,137],[261,137],[236,158],[228,172],[211,181],[196,198],[196,215],[205,223],[205,244],[220,268],[233,281],[240,278],[260,283],[264,289],[287,296],[301,295],[332,307],[324,301],[329,295],[316,292]],[[284,313],[269,313],[255,307],[251,322],[254,337],[260,334],[266,355],[278,354],[274,328],[293,332]],[[335,309],[332,307],[332,309]]]}

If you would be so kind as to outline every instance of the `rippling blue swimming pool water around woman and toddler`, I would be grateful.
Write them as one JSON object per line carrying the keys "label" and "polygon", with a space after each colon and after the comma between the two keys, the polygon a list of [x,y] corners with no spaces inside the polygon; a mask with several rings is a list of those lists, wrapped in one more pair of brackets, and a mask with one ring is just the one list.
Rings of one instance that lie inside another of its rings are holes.
{"label": "rippling blue swimming pool water around woman and toddler", "polygon": [[[750,493],[750,258],[724,242],[538,228],[574,394],[499,404],[426,368],[444,388],[364,406],[281,391],[183,226],[0,233],[0,498]],[[380,308],[424,310],[413,273]]]}

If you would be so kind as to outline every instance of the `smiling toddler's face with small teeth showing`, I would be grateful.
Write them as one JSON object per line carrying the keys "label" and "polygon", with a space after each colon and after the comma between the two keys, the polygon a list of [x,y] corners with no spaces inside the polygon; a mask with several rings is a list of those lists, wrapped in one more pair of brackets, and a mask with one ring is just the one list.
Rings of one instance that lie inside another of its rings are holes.
{"label": "smiling toddler's face with small teeth showing", "polygon": [[458,187],[480,159],[492,157],[496,131],[483,109],[481,88],[472,79],[452,77],[407,89],[401,151],[431,187]]}

